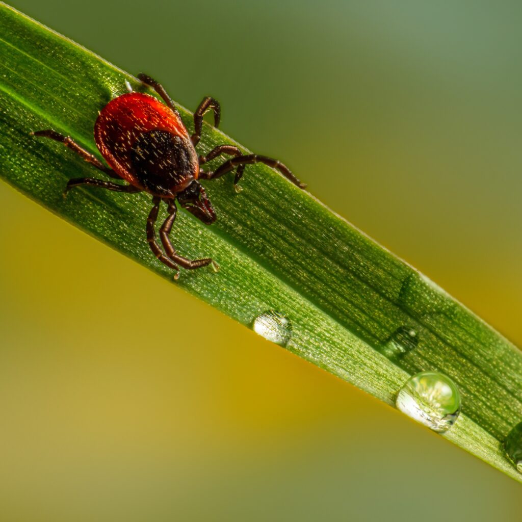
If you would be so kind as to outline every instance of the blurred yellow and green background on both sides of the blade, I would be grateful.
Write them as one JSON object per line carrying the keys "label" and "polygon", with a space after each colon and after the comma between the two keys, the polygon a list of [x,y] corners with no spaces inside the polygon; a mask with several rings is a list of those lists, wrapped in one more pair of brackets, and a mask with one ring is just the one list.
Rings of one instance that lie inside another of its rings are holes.
{"label": "blurred yellow and green background on both sides of the blade", "polygon": [[[522,345],[519,2],[11,5],[216,97],[224,132]],[[5,183],[0,209],[0,519],[520,519],[519,484],[443,438]]]}

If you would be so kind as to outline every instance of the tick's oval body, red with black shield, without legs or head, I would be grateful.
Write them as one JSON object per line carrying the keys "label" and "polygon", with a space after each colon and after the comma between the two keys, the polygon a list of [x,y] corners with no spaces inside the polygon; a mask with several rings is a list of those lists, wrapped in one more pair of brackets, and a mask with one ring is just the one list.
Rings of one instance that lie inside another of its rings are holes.
{"label": "tick's oval body, red with black shield, without legs or head", "polygon": [[152,194],[174,196],[198,177],[196,151],[183,122],[149,94],[111,100],[96,120],[94,139],[118,176]]}

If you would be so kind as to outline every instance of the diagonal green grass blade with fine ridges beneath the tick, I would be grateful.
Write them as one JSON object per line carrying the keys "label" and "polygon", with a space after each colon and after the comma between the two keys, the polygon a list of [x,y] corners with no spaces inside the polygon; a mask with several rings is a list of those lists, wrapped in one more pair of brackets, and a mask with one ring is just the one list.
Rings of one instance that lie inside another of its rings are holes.
{"label": "diagonal green grass blade with fine ridges beneath the tick", "polygon": [[[171,279],[146,242],[150,196],[80,188],[64,200],[68,179],[96,172],[60,144],[29,135],[51,127],[97,152],[92,127],[98,111],[125,92],[125,80],[139,88],[136,79],[4,4],[0,28],[0,175]],[[181,107],[180,112],[192,128],[192,114]],[[235,144],[205,125],[199,151],[221,143]],[[205,227],[180,212],[172,235],[181,254],[211,256],[221,270],[182,271],[175,284],[248,327],[258,314],[280,311],[293,325],[288,350],[388,404],[408,375],[422,370],[449,375],[464,406],[444,436],[522,481],[502,449],[509,430],[522,420],[520,351],[417,270],[264,165],[247,167],[241,194],[234,193],[231,176],[204,184],[218,221]],[[402,327],[416,331],[418,346],[387,359],[379,350]]]}

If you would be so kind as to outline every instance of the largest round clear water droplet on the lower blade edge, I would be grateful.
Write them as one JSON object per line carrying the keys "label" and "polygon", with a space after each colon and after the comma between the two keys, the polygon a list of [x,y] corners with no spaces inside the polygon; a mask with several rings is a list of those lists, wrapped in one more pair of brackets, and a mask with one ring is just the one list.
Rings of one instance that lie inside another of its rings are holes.
{"label": "largest round clear water droplet on the lower blade edge", "polygon": [[453,426],[460,413],[460,394],[448,376],[422,372],[406,381],[395,404],[412,419],[437,433],[444,433]]}

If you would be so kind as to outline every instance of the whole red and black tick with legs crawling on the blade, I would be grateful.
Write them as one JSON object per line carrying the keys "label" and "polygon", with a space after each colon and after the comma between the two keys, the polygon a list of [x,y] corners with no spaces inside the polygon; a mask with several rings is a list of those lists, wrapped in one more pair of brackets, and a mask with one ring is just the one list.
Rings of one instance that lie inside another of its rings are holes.
{"label": "whole red and black tick with legs crawling on the blade", "polygon": [[[164,103],[150,94],[131,91],[104,106],[94,124],[94,140],[109,167],[69,136],[52,129],[32,134],[60,141],[104,174],[127,182],[123,185],[92,177],[78,177],[67,182],[65,194],[80,185],[115,192],[145,191],[151,194],[152,209],[147,219],[147,241],[153,254],[175,270],[174,277],[177,279],[180,274],[179,266],[192,270],[211,263],[215,265],[211,258],[188,259],[181,256],[170,240],[170,232],[176,219],[176,199],[203,223],[211,224],[216,221],[216,212],[199,180],[213,180],[235,170],[235,186],[243,175],[245,165],[265,163],[279,170],[298,187],[304,188],[306,185],[280,161],[257,154],[243,155],[238,147],[232,145],[218,145],[205,156],[198,156],[196,146],[201,137],[203,116],[212,110],[214,125],[218,127],[221,114],[219,103],[210,97],[201,101],[194,113],[194,133],[189,135],[180,113],[163,86],[145,74],[139,74],[138,78],[143,84],[152,87]],[[224,161],[215,171],[201,170],[201,165],[221,155],[232,158]],[[159,229],[163,249],[157,242],[155,230],[161,201],[167,205],[168,212],[167,219]]]}

